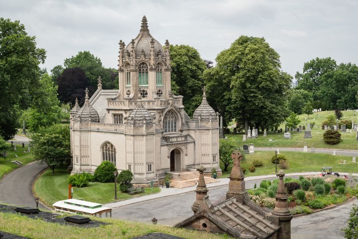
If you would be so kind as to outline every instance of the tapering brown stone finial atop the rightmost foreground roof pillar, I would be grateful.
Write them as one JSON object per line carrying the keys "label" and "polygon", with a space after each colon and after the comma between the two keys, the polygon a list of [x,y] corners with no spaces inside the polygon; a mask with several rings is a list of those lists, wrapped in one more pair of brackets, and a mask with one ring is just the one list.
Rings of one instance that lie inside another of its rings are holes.
{"label": "tapering brown stone finial atop the rightmost foreground roof pillar", "polygon": [[279,181],[278,181],[278,187],[275,197],[276,198],[275,207],[272,211],[272,214],[276,216],[290,216],[292,214],[288,210],[287,192],[283,183],[283,177],[285,173],[282,170],[280,170],[276,175],[278,176]]}

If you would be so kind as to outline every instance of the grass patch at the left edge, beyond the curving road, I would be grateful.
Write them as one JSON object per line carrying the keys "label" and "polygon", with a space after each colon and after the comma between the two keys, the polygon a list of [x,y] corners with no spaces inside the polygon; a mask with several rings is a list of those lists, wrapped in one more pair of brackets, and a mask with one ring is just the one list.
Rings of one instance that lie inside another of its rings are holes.
{"label": "grass patch at the left edge, beyond the curving road", "polygon": [[[4,174],[14,170],[15,168],[18,168],[17,164],[12,163],[13,160],[20,161],[23,165],[28,164],[30,162],[34,161],[32,151],[28,153],[24,153],[23,151],[27,151],[27,146],[25,148],[22,148],[22,145],[16,144],[16,151],[13,151],[13,148],[11,148],[11,144],[9,143],[9,149],[6,151],[6,160],[4,158],[0,158],[0,179],[3,177]],[[15,154],[18,156],[16,157]]]}

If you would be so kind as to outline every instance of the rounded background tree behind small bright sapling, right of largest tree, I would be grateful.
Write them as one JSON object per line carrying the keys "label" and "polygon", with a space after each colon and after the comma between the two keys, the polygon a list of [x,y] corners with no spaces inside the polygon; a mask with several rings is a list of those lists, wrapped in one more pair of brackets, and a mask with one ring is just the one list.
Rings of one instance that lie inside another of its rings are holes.
{"label": "rounded background tree behind small bright sapling, right of largest tree", "polygon": [[305,90],[292,89],[289,93],[288,109],[297,115],[301,115],[304,105],[312,101],[312,93]]}

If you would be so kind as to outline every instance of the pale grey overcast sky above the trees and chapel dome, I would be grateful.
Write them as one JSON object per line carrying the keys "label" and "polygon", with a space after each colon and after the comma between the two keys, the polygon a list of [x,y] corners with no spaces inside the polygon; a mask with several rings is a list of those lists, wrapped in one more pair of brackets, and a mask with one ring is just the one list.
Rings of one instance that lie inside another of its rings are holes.
{"label": "pale grey overcast sky above the trees and chapel dome", "polygon": [[161,43],[187,44],[214,61],[240,35],[265,37],[294,76],[315,57],[358,63],[357,0],[0,0],[0,16],[20,20],[42,67],[89,50],[117,67],[118,42],[137,36],[143,15]]}

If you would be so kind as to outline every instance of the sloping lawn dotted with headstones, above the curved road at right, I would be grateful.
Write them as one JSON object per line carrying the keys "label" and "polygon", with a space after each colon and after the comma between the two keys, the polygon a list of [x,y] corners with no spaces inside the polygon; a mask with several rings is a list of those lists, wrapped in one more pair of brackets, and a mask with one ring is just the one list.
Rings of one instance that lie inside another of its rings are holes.
{"label": "sloping lawn dotted with headstones, above the curved road at right", "polygon": [[[282,133],[273,133],[268,132],[268,136],[264,137],[263,133],[259,134],[259,137],[256,139],[248,139],[243,141],[243,133],[240,134],[227,134],[230,139],[235,140],[240,147],[244,144],[254,143],[255,147],[298,147],[303,148],[304,145],[308,147],[316,148],[336,148],[336,149],[354,149],[358,150],[358,140],[356,139],[357,132],[353,131],[352,133],[342,133],[341,141],[338,144],[331,145],[323,141],[324,129],[321,129],[322,122],[330,114],[334,114],[334,111],[324,111],[317,112],[309,116],[309,119],[305,121],[307,115],[299,115],[301,123],[299,125],[306,125],[308,122],[315,122],[316,126],[312,128],[311,134],[312,138],[304,138],[304,131],[302,132],[291,132],[291,139],[283,139],[284,124],[281,124],[279,128],[283,129]],[[343,111],[342,119],[353,119],[355,122],[358,122],[358,113],[357,116],[354,116],[352,111]],[[272,139],[269,142],[269,139]],[[221,139],[223,140],[223,139]]]}

